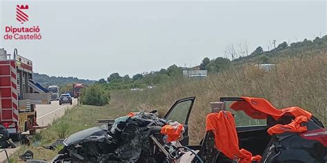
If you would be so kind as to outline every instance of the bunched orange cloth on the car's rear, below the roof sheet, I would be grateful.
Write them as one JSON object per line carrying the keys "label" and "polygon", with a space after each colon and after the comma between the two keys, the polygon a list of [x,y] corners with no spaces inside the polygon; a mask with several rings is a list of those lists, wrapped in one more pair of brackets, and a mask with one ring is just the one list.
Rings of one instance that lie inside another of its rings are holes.
{"label": "bunched orange cloth on the car's rear, below the roof sheet", "polygon": [[268,129],[268,133],[270,135],[276,134],[276,133],[284,133],[284,132],[296,132],[301,133],[304,131],[307,131],[308,129],[306,126],[301,126],[301,122],[308,122],[308,118],[306,116],[299,116],[293,120],[293,122],[290,122],[290,124],[276,124],[273,127],[270,127]]}

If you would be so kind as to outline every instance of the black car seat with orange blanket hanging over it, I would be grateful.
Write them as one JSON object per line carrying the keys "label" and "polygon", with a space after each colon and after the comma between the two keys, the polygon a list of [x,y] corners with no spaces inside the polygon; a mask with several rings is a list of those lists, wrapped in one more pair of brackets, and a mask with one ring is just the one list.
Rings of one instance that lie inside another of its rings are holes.
{"label": "black car seat with orange blanket hanging over it", "polygon": [[[227,145],[217,146],[217,144]],[[231,148],[226,149],[229,146]],[[261,159],[259,155],[252,157],[250,152],[244,149],[239,150],[235,120],[229,111],[208,114],[206,119],[206,134],[201,143],[199,155],[208,163],[236,163],[239,161],[239,158],[242,160],[253,160],[248,162],[257,162]],[[231,159],[227,155],[234,157],[234,159]]]}

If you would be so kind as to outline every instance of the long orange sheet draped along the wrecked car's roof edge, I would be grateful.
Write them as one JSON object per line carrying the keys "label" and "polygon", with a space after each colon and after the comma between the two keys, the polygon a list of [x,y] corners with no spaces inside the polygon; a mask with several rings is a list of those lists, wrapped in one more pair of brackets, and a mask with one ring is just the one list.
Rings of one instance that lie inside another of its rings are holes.
{"label": "long orange sheet draped along the wrecked car's roof edge", "polygon": [[276,109],[270,102],[264,98],[249,98],[241,97],[245,101],[235,101],[230,105],[230,109],[235,111],[243,110],[248,116],[255,119],[266,119],[267,115],[273,116],[275,120],[278,120],[281,116],[286,113],[291,115],[305,116],[311,118],[312,114],[299,107],[287,107],[285,109]]}

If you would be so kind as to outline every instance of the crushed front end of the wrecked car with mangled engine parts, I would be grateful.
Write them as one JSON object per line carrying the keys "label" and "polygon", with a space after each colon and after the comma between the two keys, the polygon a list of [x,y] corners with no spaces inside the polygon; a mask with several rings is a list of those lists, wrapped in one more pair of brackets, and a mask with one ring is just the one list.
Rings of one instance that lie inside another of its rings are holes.
{"label": "crushed front end of the wrecked car with mangled engine parts", "polygon": [[[101,127],[71,135],[62,142],[65,148],[59,151],[52,161],[146,162],[155,160],[153,150],[157,154],[166,149],[171,149],[170,153],[161,153],[160,157],[168,157],[172,153],[176,157],[180,156],[176,154],[177,151],[173,151],[177,147],[172,147],[170,142],[181,140],[183,132],[182,124],[158,118],[157,111],[132,112],[115,119],[114,122],[108,121]],[[159,148],[154,147],[153,142],[159,145]],[[166,144],[161,146],[164,142]],[[55,144],[45,147],[50,149],[54,146]]]}

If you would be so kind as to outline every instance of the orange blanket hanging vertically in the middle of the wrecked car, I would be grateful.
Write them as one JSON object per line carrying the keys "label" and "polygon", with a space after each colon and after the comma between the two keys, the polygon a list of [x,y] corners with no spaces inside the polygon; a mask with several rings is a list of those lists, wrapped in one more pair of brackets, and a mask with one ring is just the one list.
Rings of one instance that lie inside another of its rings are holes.
{"label": "orange blanket hanging vertically in the middle of the wrecked car", "polygon": [[261,160],[260,155],[252,157],[246,149],[239,150],[239,140],[235,120],[229,111],[210,113],[206,117],[206,131],[215,135],[215,146],[230,159],[239,159],[240,163],[250,163]]}

